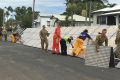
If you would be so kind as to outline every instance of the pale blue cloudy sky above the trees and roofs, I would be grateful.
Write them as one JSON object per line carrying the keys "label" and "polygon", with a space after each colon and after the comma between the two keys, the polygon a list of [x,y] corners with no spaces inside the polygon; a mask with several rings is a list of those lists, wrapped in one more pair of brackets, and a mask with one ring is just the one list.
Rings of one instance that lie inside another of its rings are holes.
{"label": "pale blue cloudy sky above the trees and roofs", "polygon": [[[31,6],[33,0],[0,0],[0,7]],[[110,3],[120,4],[120,0],[109,0]],[[65,0],[36,0],[35,10],[45,14],[61,14],[65,12]]]}

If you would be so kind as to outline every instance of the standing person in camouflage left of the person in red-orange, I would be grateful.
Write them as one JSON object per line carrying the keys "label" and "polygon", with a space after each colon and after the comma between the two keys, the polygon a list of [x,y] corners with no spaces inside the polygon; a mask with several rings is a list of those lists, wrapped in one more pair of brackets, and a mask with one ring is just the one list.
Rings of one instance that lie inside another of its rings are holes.
{"label": "standing person in camouflage left of the person in red-orange", "polygon": [[[43,29],[39,33],[40,39],[41,39],[41,47],[42,50],[48,50],[48,39],[47,37],[49,36],[48,31],[45,29],[45,25],[43,25]],[[44,48],[44,44],[46,45]]]}

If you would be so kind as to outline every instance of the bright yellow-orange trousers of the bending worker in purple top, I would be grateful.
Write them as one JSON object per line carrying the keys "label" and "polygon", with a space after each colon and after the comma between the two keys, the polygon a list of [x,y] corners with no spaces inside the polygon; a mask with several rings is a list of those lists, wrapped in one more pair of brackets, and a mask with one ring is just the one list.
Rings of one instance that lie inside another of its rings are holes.
{"label": "bright yellow-orange trousers of the bending worker in purple top", "polygon": [[85,57],[84,40],[82,36],[79,36],[73,44],[73,56]]}

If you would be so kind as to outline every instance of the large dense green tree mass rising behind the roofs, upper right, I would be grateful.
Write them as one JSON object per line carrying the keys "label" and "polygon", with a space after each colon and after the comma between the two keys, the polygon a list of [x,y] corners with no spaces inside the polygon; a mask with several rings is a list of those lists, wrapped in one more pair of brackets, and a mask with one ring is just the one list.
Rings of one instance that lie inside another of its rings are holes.
{"label": "large dense green tree mass rising behind the roofs, upper right", "polygon": [[91,17],[92,11],[105,8],[107,7],[106,4],[108,4],[108,0],[66,0],[67,8],[66,12],[64,12],[67,15],[66,21],[73,14]]}

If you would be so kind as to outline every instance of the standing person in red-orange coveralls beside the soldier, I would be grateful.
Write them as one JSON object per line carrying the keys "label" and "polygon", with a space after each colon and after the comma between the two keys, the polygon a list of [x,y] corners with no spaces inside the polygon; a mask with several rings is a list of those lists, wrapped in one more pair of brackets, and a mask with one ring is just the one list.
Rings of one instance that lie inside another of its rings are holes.
{"label": "standing person in red-orange coveralls beside the soldier", "polygon": [[57,23],[57,27],[55,28],[55,32],[53,34],[53,45],[52,45],[52,54],[60,54],[60,40],[61,40],[61,25]]}

